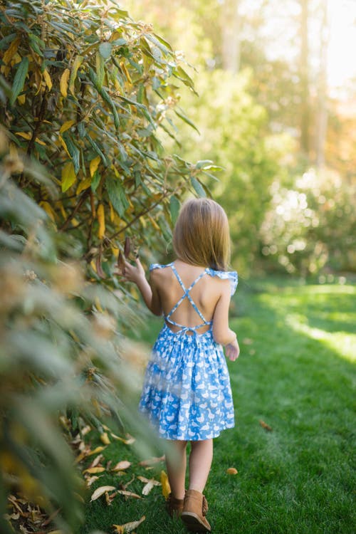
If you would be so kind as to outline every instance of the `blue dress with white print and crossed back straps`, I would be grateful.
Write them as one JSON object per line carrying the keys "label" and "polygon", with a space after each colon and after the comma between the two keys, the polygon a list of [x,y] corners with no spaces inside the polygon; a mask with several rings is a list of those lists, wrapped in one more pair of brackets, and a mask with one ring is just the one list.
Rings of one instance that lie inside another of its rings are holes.
{"label": "blue dress with white print and crossed back straps", "polygon": [[[234,405],[229,372],[221,345],[214,341],[212,329],[204,334],[197,330],[212,325],[194,303],[190,290],[203,276],[219,276],[231,283],[231,295],[237,286],[235,271],[206,268],[185,288],[173,263],[153,269],[172,268],[184,291],[172,310],[164,316],[164,326],[152,349],[140,399],[140,411],[147,416],[164,439],[197,441],[219,436],[221,430],[234,426]],[[184,326],[171,319],[184,298],[188,298],[202,323]],[[166,323],[180,328],[176,333]],[[191,335],[187,335],[191,333]]]}

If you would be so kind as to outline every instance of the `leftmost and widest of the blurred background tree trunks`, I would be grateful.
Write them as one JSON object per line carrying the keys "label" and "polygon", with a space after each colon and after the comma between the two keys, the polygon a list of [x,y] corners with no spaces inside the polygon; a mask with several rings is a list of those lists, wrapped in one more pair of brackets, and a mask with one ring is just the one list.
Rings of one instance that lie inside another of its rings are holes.
{"label": "leftmost and widest of the blurred background tree trunks", "polygon": [[236,74],[240,68],[239,0],[224,0],[221,6],[222,64]]}

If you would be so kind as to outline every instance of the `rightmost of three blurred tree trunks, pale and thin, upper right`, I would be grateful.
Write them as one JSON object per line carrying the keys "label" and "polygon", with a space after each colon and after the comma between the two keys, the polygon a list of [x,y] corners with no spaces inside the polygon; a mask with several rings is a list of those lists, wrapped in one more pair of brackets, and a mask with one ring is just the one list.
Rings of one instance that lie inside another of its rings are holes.
{"label": "rightmost of three blurred tree trunks, pale and thin, upper right", "polygon": [[328,73],[328,3],[322,2],[323,9],[322,23],[320,28],[320,70],[318,83],[318,117],[317,117],[317,132],[316,132],[316,166],[321,169],[325,165],[325,139],[326,129],[328,125],[328,88],[327,88],[327,73]]}

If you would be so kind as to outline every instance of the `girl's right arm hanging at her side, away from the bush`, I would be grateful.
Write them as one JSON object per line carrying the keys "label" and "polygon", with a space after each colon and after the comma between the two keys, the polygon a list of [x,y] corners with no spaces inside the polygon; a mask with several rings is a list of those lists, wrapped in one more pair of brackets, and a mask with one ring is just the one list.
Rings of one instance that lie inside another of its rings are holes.
{"label": "girl's right arm hanging at her side, away from the bush", "polygon": [[216,304],[213,317],[213,336],[216,343],[225,346],[226,357],[236,360],[240,348],[236,333],[229,328],[230,283],[224,281],[224,288]]}

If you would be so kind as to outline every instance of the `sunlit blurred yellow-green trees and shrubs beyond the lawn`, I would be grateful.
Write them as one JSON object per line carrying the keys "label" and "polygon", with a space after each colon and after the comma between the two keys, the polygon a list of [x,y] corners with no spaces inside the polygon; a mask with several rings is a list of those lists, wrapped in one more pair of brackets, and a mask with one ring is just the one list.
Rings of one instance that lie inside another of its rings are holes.
{"label": "sunlit blurred yellow-green trees and shrubs beyond the lawn", "polygon": [[229,212],[246,276],[355,271],[356,42],[352,1],[127,0],[182,50],[199,98],[181,101],[182,157],[224,167],[208,185]]}

